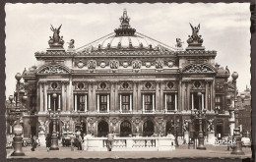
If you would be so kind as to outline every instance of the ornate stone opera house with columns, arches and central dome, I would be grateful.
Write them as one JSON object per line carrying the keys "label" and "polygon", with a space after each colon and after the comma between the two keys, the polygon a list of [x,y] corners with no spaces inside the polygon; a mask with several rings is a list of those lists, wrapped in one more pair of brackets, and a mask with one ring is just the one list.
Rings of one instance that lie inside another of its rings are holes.
{"label": "ornate stone opera house with columns, arches and central dome", "polygon": [[183,49],[180,39],[170,47],[137,32],[129,21],[124,11],[113,33],[78,49],[72,39],[67,50],[60,27],[51,27],[49,48],[35,52],[37,66],[23,73],[30,110],[23,116],[25,137],[52,131],[49,109],[60,110],[60,135],[75,132],[81,121],[82,132],[96,136],[174,134],[175,122],[182,136],[193,130],[184,121],[195,109],[207,110],[205,133],[214,119],[215,134],[229,134],[229,71],[215,63],[217,51],[202,46],[200,26],[190,25]]}

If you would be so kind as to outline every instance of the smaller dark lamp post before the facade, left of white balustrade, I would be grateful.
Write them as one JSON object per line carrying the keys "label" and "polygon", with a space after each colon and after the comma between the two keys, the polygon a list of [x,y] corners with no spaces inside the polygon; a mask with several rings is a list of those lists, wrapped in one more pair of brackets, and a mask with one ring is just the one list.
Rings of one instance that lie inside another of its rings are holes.
{"label": "smaller dark lamp post before the facade, left of white balustrade", "polygon": [[[58,120],[58,117],[56,115],[56,98],[57,98],[57,94],[56,93],[53,93],[52,94],[52,98],[53,98],[53,112],[51,111],[51,109],[49,109],[49,115],[50,115],[50,119],[51,121],[53,122],[53,131],[52,131],[52,135],[51,135],[51,146],[50,146],[50,150],[59,150],[59,147],[58,147],[58,136],[57,136],[57,132],[56,132],[56,122]],[[57,110],[57,113],[60,112],[60,109]],[[51,113],[52,113],[52,116],[51,116]]]}

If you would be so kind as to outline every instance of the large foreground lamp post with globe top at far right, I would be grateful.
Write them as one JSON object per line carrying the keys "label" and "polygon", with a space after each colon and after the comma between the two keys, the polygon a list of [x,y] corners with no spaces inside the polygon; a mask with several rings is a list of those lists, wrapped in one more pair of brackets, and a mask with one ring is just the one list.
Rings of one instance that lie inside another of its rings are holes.
{"label": "large foreground lamp post with globe top at far right", "polygon": [[[231,151],[231,154],[235,155],[244,155],[244,152],[242,151],[242,143],[241,143],[241,135],[240,130],[238,128],[238,105],[237,105],[237,95],[236,95],[236,79],[238,78],[238,74],[236,72],[233,72],[232,79],[234,83],[234,107],[230,108],[230,111],[234,112],[234,118],[235,118],[235,129],[233,130],[233,139],[235,139],[236,143],[233,146],[233,150]],[[241,109],[240,109],[241,110]]]}

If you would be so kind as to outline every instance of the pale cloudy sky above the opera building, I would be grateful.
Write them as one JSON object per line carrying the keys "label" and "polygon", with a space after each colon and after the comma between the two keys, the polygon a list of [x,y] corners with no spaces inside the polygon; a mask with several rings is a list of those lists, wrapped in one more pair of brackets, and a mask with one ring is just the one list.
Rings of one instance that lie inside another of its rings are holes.
{"label": "pale cloudy sky above the opera building", "polygon": [[[179,37],[186,42],[189,23],[200,24],[207,50],[216,50],[216,62],[239,74],[239,91],[250,87],[249,3],[231,4],[7,4],[6,96],[15,90],[15,75],[36,65],[34,52],[45,51],[50,25],[62,25],[65,42],[80,47],[113,32],[126,8],[131,27],[165,44]],[[67,48],[65,43],[65,48]],[[183,45],[187,47],[187,43]]]}

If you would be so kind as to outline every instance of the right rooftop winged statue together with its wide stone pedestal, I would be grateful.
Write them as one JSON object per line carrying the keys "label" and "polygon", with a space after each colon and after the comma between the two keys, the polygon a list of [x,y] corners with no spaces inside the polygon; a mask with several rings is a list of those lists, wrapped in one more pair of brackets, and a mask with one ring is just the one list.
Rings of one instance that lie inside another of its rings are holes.
{"label": "right rooftop winged statue together with its wide stone pedestal", "polygon": [[198,25],[198,27],[193,27],[190,23],[189,25],[192,28],[192,35],[188,35],[188,47],[186,48],[186,50],[204,50],[205,47],[202,46],[204,40],[202,38],[202,35],[198,34],[200,24]]}

